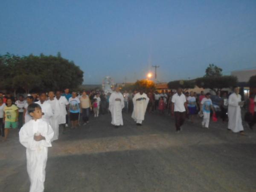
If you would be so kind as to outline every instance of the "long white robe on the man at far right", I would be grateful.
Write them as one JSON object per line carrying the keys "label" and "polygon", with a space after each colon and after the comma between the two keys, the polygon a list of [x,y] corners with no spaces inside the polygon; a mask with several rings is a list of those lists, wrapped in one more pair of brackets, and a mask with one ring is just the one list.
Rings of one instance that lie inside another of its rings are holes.
{"label": "long white robe on the man at far right", "polygon": [[235,133],[244,131],[239,102],[241,102],[241,95],[239,94],[232,93],[228,98],[228,128]]}

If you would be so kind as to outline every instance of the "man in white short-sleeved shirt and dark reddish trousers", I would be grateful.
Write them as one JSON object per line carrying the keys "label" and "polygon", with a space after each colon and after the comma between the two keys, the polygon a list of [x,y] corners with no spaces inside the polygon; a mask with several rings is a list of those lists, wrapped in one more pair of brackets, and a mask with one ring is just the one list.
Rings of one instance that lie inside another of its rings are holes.
{"label": "man in white short-sleeved shirt and dark reddish trousers", "polygon": [[178,88],[177,93],[172,96],[172,115],[175,116],[176,131],[180,132],[180,127],[183,125],[187,113],[186,97],[182,93],[182,89]]}

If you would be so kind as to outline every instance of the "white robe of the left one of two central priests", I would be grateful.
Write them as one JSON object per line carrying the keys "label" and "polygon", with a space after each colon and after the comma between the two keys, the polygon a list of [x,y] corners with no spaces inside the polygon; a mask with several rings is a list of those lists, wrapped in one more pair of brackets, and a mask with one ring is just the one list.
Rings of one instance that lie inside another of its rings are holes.
{"label": "white robe of the left one of two central priests", "polygon": [[[121,99],[121,101],[116,101],[115,99]],[[124,125],[122,119],[122,108],[125,107],[124,97],[122,93],[113,92],[109,97],[109,111],[111,112],[112,125]]]}

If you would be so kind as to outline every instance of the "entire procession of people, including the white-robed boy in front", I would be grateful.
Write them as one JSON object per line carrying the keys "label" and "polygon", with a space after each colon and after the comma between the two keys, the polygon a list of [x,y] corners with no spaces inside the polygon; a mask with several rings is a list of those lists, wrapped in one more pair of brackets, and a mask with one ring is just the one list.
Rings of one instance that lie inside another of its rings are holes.
{"label": "entire procession of people, including the white-robed boy in front", "polygon": [[[256,123],[256,96],[251,95],[246,104],[245,120],[252,128]],[[111,124],[119,128],[124,125],[123,112],[132,112],[135,125],[141,126],[148,111],[174,116],[177,133],[186,119],[193,123],[197,115],[202,117],[202,128],[209,128],[212,115],[227,121],[229,131],[244,135],[241,118],[244,105],[238,87],[231,94],[218,92],[214,96],[203,91],[199,95],[183,92],[181,88],[161,93],[145,93],[143,89],[121,93],[119,87],[108,94],[99,90],[70,93],[65,89],[63,93],[60,90],[31,93],[26,99],[23,95],[15,99],[10,93],[0,93],[0,133],[6,141],[10,128],[20,129],[20,143],[26,147],[30,191],[43,191],[47,148],[52,146],[52,141],[58,140],[59,128],[65,134],[68,127],[81,128],[81,123],[89,123],[90,116],[98,118],[105,113],[111,113]]]}

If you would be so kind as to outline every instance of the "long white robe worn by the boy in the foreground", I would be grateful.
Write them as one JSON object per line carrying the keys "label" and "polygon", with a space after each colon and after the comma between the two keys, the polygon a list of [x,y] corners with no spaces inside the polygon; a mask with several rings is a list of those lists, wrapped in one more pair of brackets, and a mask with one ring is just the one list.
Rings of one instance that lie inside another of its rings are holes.
{"label": "long white robe worn by the boy in the foreground", "polygon": [[[35,141],[34,134],[41,134],[45,140]],[[20,143],[26,147],[27,172],[30,180],[30,192],[43,192],[48,147],[53,137],[51,126],[42,119],[30,120],[20,129]]]}

